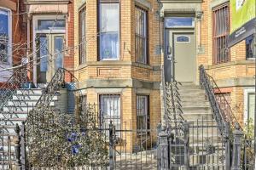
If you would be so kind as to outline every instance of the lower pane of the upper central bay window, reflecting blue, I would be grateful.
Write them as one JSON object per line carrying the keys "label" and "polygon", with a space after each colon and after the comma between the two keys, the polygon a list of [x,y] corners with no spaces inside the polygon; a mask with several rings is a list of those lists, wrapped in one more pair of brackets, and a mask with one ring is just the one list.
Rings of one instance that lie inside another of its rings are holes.
{"label": "lower pane of the upper central bay window, reflecting blue", "polygon": [[118,32],[101,34],[101,56],[102,59],[117,59],[119,54]]}

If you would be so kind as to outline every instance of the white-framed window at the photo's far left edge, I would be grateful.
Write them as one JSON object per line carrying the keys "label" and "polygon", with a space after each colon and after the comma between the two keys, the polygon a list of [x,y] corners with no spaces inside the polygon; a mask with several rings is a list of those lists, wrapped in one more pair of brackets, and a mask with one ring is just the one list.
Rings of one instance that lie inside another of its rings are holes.
{"label": "white-framed window at the photo's far left edge", "polygon": [[0,62],[9,63],[11,44],[11,18],[10,11],[0,8]]}

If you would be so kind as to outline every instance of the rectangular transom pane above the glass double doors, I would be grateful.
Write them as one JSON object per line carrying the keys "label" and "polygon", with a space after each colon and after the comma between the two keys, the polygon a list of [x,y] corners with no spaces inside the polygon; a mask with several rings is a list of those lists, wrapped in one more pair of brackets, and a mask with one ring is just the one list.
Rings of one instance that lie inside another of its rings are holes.
{"label": "rectangular transom pane above the glass double doors", "polygon": [[65,30],[65,20],[38,20],[38,30]]}

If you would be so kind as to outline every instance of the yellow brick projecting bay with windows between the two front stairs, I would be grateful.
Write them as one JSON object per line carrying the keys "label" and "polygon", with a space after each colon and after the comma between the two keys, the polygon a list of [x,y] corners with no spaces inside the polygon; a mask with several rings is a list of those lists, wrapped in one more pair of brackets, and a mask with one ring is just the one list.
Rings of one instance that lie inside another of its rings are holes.
{"label": "yellow brick projecting bay with windows between the two front stairs", "polygon": [[76,0],[75,70],[82,98],[105,125],[145,131],[160,122],[160,14],[155,0]]}

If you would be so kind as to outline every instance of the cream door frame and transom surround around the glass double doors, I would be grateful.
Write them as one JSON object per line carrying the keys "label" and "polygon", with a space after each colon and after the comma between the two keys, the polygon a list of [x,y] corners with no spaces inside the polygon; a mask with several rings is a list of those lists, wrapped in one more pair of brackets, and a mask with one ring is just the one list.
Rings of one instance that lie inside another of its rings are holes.
{"label": "cream door frame and transom surround around the glass double doors", "polygon": [[[38,20],[66,20],[65,23],[65,29],[63,30],[38,30]],[[34,15],[32,16],[32,43],[33,43],[33,53],[32,53],[32,57],[33,57],[33,76],[32,76],[32,81],[34,83],[34,85],[37,87],[38,84],[38,71],[37,71],[37,45],[36,45],[36,38],[37,38],[37,34],[63,34],[64,35],[64,41],[65,39],[67,39],[66,37],[66,31],[67,30],[67,17],[63,14],[63,15],[58,15],[56,17],[56,15]]]}

